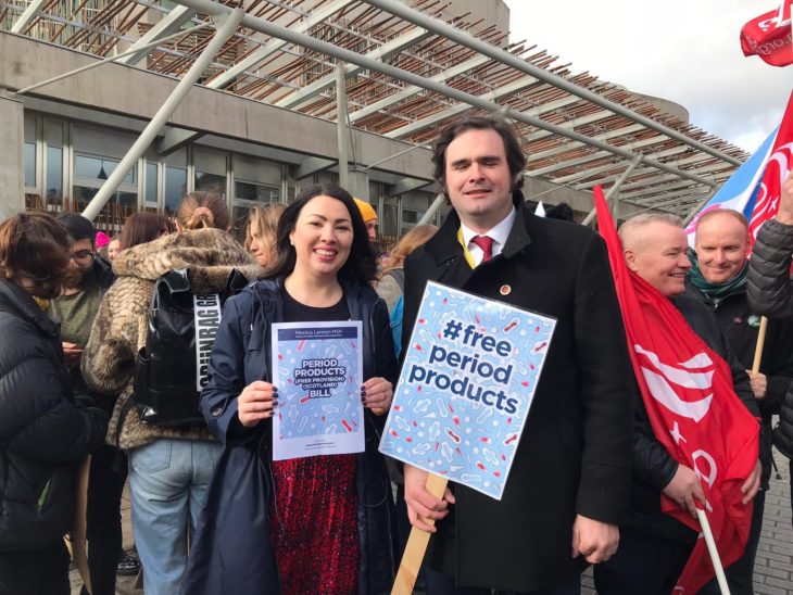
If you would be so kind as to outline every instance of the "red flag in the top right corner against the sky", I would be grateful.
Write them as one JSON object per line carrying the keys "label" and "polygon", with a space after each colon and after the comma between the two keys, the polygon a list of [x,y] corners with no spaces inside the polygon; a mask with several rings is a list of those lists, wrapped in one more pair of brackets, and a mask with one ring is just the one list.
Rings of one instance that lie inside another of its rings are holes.
{"label": "red flag in the top right corner against the sky", "polygon": [[759,55],[771,66],[793,64],[790,11],[791,0],[782,0],[779,9],[746,23],[741,29],[743,55]]}

